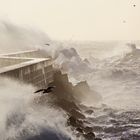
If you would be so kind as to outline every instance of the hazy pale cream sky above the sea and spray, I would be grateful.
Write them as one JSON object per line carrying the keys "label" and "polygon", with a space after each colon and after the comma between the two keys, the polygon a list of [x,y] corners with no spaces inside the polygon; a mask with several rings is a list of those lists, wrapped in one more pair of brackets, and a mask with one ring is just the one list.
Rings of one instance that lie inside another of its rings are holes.
{"label": "hazy pale cream sky above the sea and spray", "polygon": [[140,39],[140,0],[0,0],[0,19],[54,39]]}

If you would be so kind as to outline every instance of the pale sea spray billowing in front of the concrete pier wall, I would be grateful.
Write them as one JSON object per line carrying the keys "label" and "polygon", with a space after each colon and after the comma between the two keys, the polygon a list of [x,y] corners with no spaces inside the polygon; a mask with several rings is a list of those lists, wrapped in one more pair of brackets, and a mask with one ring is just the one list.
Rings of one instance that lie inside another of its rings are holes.
{"label": "pale sea spray billowing in front of the concrete pier wall", "polygon": [[[70,137],[63,111],[34,104],[34,87],[2,78],[0,81],[0,135],[2,140]],[[69,135],[69,136],[68,136]],[[72,137],[72,136],[71,136]]]}

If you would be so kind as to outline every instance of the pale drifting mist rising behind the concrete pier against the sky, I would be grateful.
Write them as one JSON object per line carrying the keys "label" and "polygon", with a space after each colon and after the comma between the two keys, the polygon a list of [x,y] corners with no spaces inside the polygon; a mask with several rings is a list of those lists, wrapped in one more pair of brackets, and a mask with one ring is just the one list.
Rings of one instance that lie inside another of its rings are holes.
{"label": "pale drifting mist rising behind the concrete pier against the sky", "polygon": [[50,42],[48,35],[38,29],[0,21],[1,54],[37,49],[48,42]]}

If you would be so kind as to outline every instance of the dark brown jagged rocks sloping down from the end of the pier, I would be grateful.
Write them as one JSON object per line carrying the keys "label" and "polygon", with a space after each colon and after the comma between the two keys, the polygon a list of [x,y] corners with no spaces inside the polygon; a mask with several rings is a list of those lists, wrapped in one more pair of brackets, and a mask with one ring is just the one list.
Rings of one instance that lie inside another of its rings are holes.
{"label": "dark brown jagged rocks sloping down from the end of the pier", "polygon": [[67,126],[71,128],[73,133],[77,137],[83,137],[85,140],[101,140],[94,134],[94,129],[88,126],[86,114],[92,114],[94,111],[84,105],[80,104],[77,96],[80,96],[82,92],[88,92],[90,90],[86,81],[79,82],[76,86],[73,86],[69,82],[67,74],[62,74],[60,71],[55,71],[54,82],[56,86],[53,91],[53,98],[55,98],[55,104],[62,108],[67,114]]}

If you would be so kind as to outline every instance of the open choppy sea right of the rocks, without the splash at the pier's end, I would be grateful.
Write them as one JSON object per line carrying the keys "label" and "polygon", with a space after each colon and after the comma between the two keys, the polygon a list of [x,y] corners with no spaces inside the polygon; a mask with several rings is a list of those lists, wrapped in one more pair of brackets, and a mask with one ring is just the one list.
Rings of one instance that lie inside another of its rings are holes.
{"label": "open choppy sea right of the rocks, without the splash at the pier's end", "polygon": [[[140,50],[138,46],[133,49],[125,44],[112,48],[102,44],[101,48],[80,50],[92,65],[92,72],[82,79],[87,79],[90,87],[102,97],[100,107],[94,108],[94,114],[89,116],[91,125],[105,140],[139,140]],[[85,103],[95,106],[88,100]]]}

